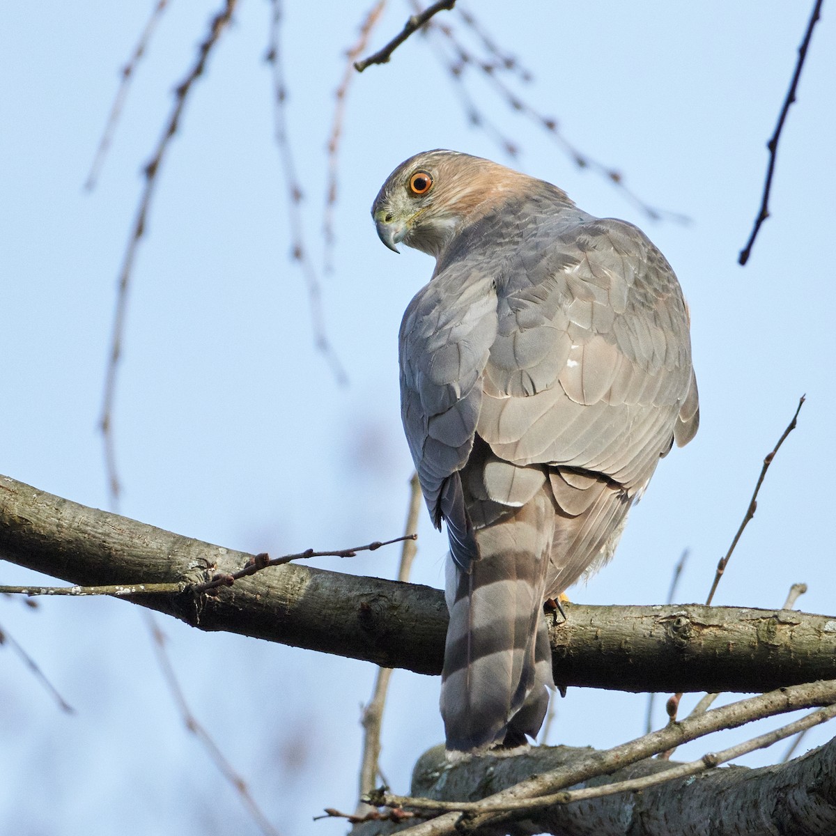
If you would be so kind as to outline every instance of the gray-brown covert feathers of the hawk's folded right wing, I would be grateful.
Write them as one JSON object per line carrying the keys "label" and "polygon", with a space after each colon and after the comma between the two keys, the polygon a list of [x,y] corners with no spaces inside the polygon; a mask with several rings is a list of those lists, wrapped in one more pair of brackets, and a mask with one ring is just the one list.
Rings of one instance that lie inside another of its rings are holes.
{"label": "gray-brown covert feathers of the hawk's folded right wing", "polygon": [[[679,284],[644,233],[626,222],[533,228],[553,243],[535,247],[539,257],[521,259],[498,287],[499,336],[477,431],[507,461],[605,464],[601,472],[626,479],[635,492],[642,487],[636,480],[646,482],[670,448],[670,415],[691,389]],[[550,317],[533,314],[535,299]],[[689,421],[683,417],[682,426]]]}

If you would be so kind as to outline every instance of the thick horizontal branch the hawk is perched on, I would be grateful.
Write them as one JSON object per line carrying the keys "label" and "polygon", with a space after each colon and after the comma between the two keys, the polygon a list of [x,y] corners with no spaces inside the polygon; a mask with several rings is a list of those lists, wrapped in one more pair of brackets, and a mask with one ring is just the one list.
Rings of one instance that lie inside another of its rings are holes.
{"label": "thick horizontal branch the hawk is perched on", "polygon": [[[201,584],[252,556],[84,507],[0,477],[0,555],[73,584]],[[196,594],[127,596],[201,630],[228,630],[418,673],[441,671],[440,590],[293,563]],[[697,604],[566,606],[551,630],[564,686],[770,691],[836,677],[836,619]]]}

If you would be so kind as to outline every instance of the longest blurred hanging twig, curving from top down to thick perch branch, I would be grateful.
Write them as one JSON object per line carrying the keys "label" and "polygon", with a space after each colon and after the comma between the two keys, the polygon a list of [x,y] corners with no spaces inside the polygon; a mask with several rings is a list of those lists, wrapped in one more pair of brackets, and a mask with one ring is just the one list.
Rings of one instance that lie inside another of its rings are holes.
{"label": "longest blurred hanging twig, curving from top down to thick perch branch", "polygon": [[119,477],[116,469],[116,455],[113,437],[113,406],[116,391],[116,370],[122,354],[122,340],[125,334],[125,317],[128,308],[128,290],[130,288],[130,277],[134,268],[136,252],[140,246],[140,239],[145,235],[145,225],[148,220],[151,198],[154,189],[159,181],[158,174],[160,166],[171,145],[171,139],[176,134],[180,125],[183,108],[186,99],[191,91],[192,85],[203,74],[206,69],[206,60],[221,37],[221,33],[227,28],[232,20],[232,13],[237,6],[237,0],[223,0],[222,9],[217,12],[209,23],[209,31],[206,38],[197,49],[195,64],[186,74],[186,78],[175,88],[174,107],[171,109],[166,125],[163,129],[160,140],[148,164],[145,166],[145,186],[140,196],[140,203],[136,212],[133,227],[131,227],[130,239],[125,249],[125,256],[122,262],[119,277],[119,289],[116,297],[116,309],[113,319],[113,332],[110,337],[110,355],[108,359],[107,373],[104,379],[104,399],[102,403],[99,429],[104,440],[104,466],[107,470],[110,497],[114,507],[119,501]]}

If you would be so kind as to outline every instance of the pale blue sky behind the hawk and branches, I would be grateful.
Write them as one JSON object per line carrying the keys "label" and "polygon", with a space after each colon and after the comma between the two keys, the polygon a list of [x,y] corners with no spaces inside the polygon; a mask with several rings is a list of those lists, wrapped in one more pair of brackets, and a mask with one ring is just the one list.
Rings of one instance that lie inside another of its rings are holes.
{"label": "pale blue sky behind the hawk and branches", "polygon": [[[47,0],[0,11],[0,472],[96,507],[109,503],[97,421],[140,169],[215,11],[171,3],[89,195],[82,184],[118,71],[151,5]],[[289,130],[319,264],[333,93],[366,4],[286,5]],[[623,171],[645,201],[692,219],[650,222],[472,77],[482,111],[522,148],[514,165],[589,212],[638,223],[691,303],[700,433],[662,463],[614,563],[575,599],[660,603],[686,547],[677,597],[704,599],[762,458],[806,393],[716,603],[776,607],[805,581],[799,607],[833,614],[836,33],[827,8],[782,137],[772,217],[748,266],[737,265],[809,6],[478,4],[483,25],[532,70],[528,101],[557,117],[580,150]],[[375,46],[407,14],[392,0]],[[322,278],[329,339],[350,379],[340,387],[314,348],[303,277],[288,260],[287,186],[263,62],[268,15],[268,3],[239,6],[161,172],[134,273],[114,421],[123,513],[284,553],[390,538],[403,525],[411,463],[396,334],[432,263],[378,241],[369,207],[380,184],[405,157],[433,147],[508,160],[467,125],[423,38],[354,79],[335,270]],[[426,521],[419,548],[415,579],[440,586],[444,539]],[[390,549],[318,565],[390,577],[396,557]],[[24,579],[3,564],[3,583]],[[0,625],[78,712],[62,715],[8,648],[0,653],[3,832],[257,833],[183,729],[137,608],[62,599],[33,612],[7,599]],[[353,807],[359,704],[373,668],[171,620],[161,626],[193,711],[281,832],[344,832],[310,818],[325,806]],[[441,740],[437,691],[435,679],[395,674],[382,766],[397,791],[415,758]],[[551,739],[606,747],[639,734],[644,715],[644,696],[571,689]],[[808,742],[832,734],[818,729]],[[684,753],[706,746],[716,744]],[[302,753],[296,761],[293,752]]]}

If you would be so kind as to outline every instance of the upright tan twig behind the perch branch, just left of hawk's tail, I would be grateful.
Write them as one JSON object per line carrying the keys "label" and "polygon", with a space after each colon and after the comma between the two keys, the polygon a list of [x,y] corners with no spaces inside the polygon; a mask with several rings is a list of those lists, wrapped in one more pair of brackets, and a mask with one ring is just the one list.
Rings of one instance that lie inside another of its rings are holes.
{"label": "upright tan twig behind the perch branch, just left of hawk's tail", "polygon": [[[406,512],[406,535],[402,538],[404,546],[400,552],[400,566],[398,567],[398,580],[403,584],[410,579],[412,561],[417,552],[415,548],[417,535],[414,532],[415,528],[418,528],[418,519],[421,514],[423,504],[421,498],[421,483],[418,482],[418,474],[413,473],[410,478],[410,502]],[[383,710],[391,675],[391,668],[379,667],[377,669],[371,699],[363,710],[361,723],[364,734],[363,753],[360,757],[359,798],[375,788],[380,774],[380,728],[383,725]],[[355,815],[364,816],[370,813],[370,809],[368,804],[360,803]]]}

